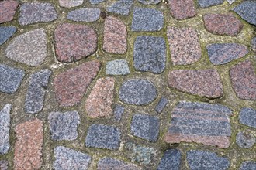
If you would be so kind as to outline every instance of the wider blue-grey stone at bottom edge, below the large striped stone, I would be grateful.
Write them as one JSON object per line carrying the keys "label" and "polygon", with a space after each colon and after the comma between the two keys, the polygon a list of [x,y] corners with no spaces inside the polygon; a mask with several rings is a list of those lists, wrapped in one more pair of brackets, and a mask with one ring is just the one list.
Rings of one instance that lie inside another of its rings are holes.
{"label": "wider blue-grey stone at bottom edge, below the large striped stone", "polygon": [[191,170],[228,169],[230,161],[209,151],[187,151],[187,162]]}

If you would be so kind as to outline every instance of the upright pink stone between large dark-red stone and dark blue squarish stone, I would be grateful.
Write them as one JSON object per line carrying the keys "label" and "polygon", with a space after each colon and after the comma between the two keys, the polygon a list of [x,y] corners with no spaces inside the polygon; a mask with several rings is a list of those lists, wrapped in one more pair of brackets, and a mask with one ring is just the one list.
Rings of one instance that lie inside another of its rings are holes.
{"label": "upright pink stone between large dark-red stone and dark blue squarish stone", "polygon": [[124,54],[127,52],[126,25],[109,16],[104,23],[103,47],[107,53]]}

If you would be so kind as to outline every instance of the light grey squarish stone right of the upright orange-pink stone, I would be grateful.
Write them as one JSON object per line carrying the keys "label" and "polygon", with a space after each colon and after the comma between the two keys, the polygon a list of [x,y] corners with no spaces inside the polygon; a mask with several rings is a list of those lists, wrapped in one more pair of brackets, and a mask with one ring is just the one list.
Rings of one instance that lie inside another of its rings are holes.
{"label": "light grey squarish stone right of the upright orange-pink stone", "polygon": [[80,117],[77,111],[52,112],[48,117],[50,137],[54,141],[72,141],[78,138]]}

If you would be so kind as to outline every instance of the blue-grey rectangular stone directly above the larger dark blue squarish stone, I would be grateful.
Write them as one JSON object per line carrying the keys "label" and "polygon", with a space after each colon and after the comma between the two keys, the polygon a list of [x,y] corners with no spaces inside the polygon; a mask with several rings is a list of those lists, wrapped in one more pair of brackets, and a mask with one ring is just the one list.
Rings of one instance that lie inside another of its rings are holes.
{"label": "blue-grey rectangular stone directly above the larger dark blue squarish stone", "polygon": [[160,31],[164,26],[164,14],[154,8],[134,8],[131,30],[133,32]]}

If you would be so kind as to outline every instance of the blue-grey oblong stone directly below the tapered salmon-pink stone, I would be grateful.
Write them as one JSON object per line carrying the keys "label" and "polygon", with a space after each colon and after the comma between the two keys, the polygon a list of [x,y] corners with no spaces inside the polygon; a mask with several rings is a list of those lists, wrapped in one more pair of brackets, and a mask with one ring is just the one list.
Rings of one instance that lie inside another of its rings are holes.
{"label": "blue-grey oblong stone directly below the tapered salmon-pink stone", "polygon": [[119,128],[103,124],[92,124],[85,138],[85,146],[116,150],[121,142]]}

